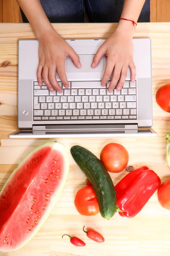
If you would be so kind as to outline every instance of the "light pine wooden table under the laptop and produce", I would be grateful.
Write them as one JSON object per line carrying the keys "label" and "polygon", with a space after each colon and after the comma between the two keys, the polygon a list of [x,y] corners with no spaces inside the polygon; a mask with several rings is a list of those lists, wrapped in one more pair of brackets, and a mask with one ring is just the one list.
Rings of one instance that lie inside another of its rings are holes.
{"label": "light pine wooden table under the laptop and produce", "polygon": [[[108,38],[116,24],[54,24],[63,38]],[[82,145],[99,157],[107,143],[124,145],[129,154],[129,164],[134,167],[148,165],[161,178],[170,179],[170,168],[165,166],[166,140],[170,131],[170,114],[156,104],[158,88],[170,82],[170,23],[140,23],[136,37],[152,40],[153,77],[153,128],[158,132],[153,138],[100,138],[57,139],[70,150],[72,145]],[[34,38],[29,24],[0,24],[0,188],[26,154],[45,140],[14,140],[8,134],[17,130],[17,41]],[[4,62],[3,62],[4,64]],[[8,64],[5,62],[5,64]],[[116,184],[127,172],[111,174]],[[85,175],[75,165],[70,155],[70,172],[62,196],[48,220],[37,235],[22,249],[0,256],[163,256],[170,255],[170,211],[163,209],[155,193],[142,211],[132,219],[116,214],[111,220],[100,215],[85,217],[74,207],[74,196],[85,186]],[[91,227],[105,237],[97,244],[87,239],[82,227]],[[74,247],[64,233],[79,236],[86,247]]]}

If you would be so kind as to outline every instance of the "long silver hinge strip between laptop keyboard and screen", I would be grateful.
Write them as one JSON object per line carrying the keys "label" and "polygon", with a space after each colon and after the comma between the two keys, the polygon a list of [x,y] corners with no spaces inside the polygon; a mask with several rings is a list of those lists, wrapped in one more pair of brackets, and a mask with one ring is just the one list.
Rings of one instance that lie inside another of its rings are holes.
{"label": "long silver hinge strip between laptop keyboard and screen", "polygon": [[33,125],[34,131],[124,131],[138,130],[137,124],[60,124],[60,125]]}

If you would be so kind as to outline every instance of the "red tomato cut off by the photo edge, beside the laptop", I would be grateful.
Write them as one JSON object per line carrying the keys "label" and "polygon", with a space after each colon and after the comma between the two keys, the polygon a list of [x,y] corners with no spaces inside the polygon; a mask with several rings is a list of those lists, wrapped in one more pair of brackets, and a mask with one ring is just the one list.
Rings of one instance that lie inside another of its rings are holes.
{"label": "red tomato cut off by the photo edge, beside the laptop", "polygon": [[165,84],[158,89],[156,101],[161,109],[170,113],[170,84]]}

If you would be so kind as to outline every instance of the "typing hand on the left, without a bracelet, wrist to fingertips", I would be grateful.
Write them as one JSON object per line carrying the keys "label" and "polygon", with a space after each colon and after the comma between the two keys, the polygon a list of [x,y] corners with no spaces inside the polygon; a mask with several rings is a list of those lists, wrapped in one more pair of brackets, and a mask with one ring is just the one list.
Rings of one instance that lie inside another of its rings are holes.
{"label": "typing hand on the left, without a bracelet, wrist to fingertips", "polygon": [[81,67],[79,56],[74,49],[62,39],[55,30],[52,30],[39,38],[39,65],[37,68],[37,81],[45,85],[52,92],[62,92],[56,79],[56,70],[65,88],[69,87],[65,74],[65,58],[69,56],[77,68]]}

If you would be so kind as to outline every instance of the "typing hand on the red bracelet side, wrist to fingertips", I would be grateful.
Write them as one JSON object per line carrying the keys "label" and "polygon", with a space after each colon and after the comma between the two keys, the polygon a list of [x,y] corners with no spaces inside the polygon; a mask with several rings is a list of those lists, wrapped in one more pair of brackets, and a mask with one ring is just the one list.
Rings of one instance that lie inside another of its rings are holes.
{"label": "typing hand on the red bracelet side, wrist to fingertips", "polygon": [[100,59],[105,54],[107,64],[102,78],[102,86],[105,86],[113,71],[113,78],[108,87],[108,91],[112,92],[117,84],[117,90],[121,90],[127,76],[127,67],[130,67],[131,81],[136,77],[136,67],[133,62],[133,42],[132,34],[116,30],[98,49],[94,56],[91,67],[96,67]]}

